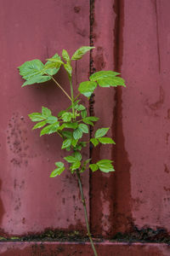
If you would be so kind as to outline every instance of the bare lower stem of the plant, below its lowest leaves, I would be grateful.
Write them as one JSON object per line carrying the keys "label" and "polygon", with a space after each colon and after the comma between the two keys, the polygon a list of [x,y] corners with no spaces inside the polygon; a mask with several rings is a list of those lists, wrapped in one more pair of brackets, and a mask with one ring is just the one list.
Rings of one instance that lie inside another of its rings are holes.
{"label": "bare lower stem of the plant, below its lowest leaves", "polygon": [[85,201],[84,193],[83,193],[83,190],[82,190],[82,181],[81,181],[81,177],[80,177],[80,172],[78,172],[78,170],[77,170],[77,178],[78,178],[79,189],[80,189],[80,193],[81,193],[81,197],[82,197],[82,205],[83,205],[83,208],[84,208],[84,215],[85,215],[85,220],[86,220],[86,227],[87,227],[87,230],[88,230],[88,237],[89,237],[91,246],[93,248],[94,255],[98,256],[98,253],[96,252],[96,249],[94,247],[94,241],[93,241],[91,233],[90,233],[90,228],[89,228],[89,224],[88,224],[88,212],[87,212],[87,207],[86,207],[86,201]]}

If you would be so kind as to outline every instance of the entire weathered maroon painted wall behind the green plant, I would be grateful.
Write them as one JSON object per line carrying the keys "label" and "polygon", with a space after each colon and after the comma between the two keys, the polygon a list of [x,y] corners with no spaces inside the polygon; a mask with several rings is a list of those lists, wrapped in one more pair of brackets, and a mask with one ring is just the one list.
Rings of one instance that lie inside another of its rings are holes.
{"label": "entire weathered maroon painted wall behind the green plant", "polygon": [[[110,157],[116,166],[115,173],[83,176],[92,233],[110,240],[99,243],[101,255],[169,255],[160,243],[170,241],[169,9],[168,0],[0,3],[2,236],[85,228],[77,181],[69,173],[49,178],[54,161],[63,157],[61,141],[38,137],[27,118],[41,106],[57,113],[68,102],[53,83],[20,89],[16,67],[34,58],[45,61],[63,48],[72,54],[92,44],[93,54],[79,61],[77,84],[88,78],[89,70],[101,69],[119,71],[127,81],[126,89],[96,90],[89,104],[100,118],[97,127],[110,125],[116,140],[114,147],[84,153],[93,160]],[[63,70],[59,81],[66,89]],[[133,238],[139,243],[127,249],[127,244],[111,241],[118,233],[127,243]],[[150,245],[150,240],[157,243]],[[88,243],[83,249],[77,243],[33,245],[3,242],[0,254],[55,255],[61,247],[59,255],[91,252]]]}

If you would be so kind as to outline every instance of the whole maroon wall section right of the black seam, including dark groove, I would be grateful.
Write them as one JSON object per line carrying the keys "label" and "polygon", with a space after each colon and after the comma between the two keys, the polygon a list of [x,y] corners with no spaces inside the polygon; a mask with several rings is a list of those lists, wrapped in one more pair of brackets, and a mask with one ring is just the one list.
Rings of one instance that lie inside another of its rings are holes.
{"label": "whole maroon wall section right of the black seam, including dark groove", "polygon": [[[110,89],[94,96],[94,113],[103,126],[113,121],[116,138],[113,148],[93,151],[94,160],[112,155],[116,166],[113,175],[92,178],[91,224],[98,236],[147,227],[170,231],[169,8],[169,1],[94,1],[94,46],[104,45],[102,63],[109,61],[103,68],[127,81],[115,96]],[[97,69],[98,56],[95,50]]]}

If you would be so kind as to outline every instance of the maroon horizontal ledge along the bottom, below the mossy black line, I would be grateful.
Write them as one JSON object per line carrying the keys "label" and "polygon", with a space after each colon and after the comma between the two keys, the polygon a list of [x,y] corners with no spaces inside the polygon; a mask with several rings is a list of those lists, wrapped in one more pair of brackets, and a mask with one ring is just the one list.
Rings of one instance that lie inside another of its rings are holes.
{"label": "maroon horizontal ledge along the bottom, below the mossy black line", "polygon": [[[95,243],[99,256],[169,256],[170,248],[166,244],[158,243]],[[93,256],[89,242],[1,242],[0,255],[2,256]]]}

